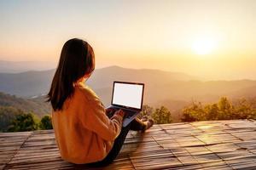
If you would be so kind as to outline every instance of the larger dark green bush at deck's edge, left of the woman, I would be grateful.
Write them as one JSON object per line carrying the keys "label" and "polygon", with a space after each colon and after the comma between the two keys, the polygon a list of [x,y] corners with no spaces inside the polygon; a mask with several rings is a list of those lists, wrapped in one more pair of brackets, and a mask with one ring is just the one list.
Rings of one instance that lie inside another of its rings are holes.
{"label": "larger dark green bush at deck's edge, left of the woman", "polygon": [[15,116],[9,132],[24,132],[38,129],[38,120],[33,113],[20,113]]}

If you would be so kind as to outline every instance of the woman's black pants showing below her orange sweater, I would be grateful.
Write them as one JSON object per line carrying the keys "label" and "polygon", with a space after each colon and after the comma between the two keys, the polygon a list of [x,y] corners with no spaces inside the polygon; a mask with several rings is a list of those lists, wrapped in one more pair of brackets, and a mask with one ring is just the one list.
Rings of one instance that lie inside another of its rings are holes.
{"label": "woman's black pants showing below her orange sweater", "polygon": [[[111,116],[108,115],[108,117],[111,117]],[[119,136],[114,140],[113,148],[108,153],[108,156],[106,156],[102,161],[96,161],[93,163],[89,163],[88,165],[90,167],[104,167],[112,163],[113,160],[116,158],[116,156],[119,155],[119,151],[121,150],[125,142],[125,138],[129,130],[140,131],[140,130],[143,130],[145,127],[146,125],[144,122],[142,122],[138,118],[135,118],[126,127],[122,127],[121,132],[119,133]]]}

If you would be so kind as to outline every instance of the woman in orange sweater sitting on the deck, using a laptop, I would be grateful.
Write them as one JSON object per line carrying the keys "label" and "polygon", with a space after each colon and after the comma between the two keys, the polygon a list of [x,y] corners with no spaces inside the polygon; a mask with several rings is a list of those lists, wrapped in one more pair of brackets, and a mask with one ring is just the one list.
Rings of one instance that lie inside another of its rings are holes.
{"label": "woman in orange sweater sitting on the deck, using a laptop", "polygon": [[105,110],[101,100],[84,82],[95,69],[93,49],[73,38],[62,50],[48,94],[52,105],[55,139],[64,160],[92,166],[113,161],[128,131],[145,131],[153,125],[135,119],[122,128],[124,111]]}

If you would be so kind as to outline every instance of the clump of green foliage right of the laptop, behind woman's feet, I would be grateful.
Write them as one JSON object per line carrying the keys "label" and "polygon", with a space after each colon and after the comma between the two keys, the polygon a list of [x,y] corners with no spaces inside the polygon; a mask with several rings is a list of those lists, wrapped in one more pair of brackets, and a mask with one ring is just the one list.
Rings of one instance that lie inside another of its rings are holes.
{"label": "clump of green foliage right of the laptop, behind woman's feet", "polygon": [[153,107],[148,105],[143,105],[143,111],[141,112],[139,118],[143,116],[148,116],[154,119],[156,124],[164,124],[172,122],[172,114],[165,106],[161,106],[154,110]]}

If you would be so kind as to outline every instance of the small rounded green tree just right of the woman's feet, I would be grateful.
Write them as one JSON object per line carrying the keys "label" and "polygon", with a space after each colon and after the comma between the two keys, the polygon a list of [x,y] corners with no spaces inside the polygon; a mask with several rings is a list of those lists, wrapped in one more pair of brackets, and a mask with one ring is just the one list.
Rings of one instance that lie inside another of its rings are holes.
{"label": "small rounded green tree just right of the woman's feet", "polygon": [[151,116],[156,124],[172,122],[171,111],[169,111],[165,106],[161,106],[160,109],[156,109]]}

